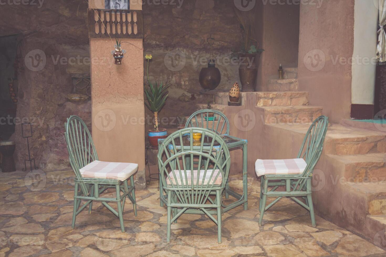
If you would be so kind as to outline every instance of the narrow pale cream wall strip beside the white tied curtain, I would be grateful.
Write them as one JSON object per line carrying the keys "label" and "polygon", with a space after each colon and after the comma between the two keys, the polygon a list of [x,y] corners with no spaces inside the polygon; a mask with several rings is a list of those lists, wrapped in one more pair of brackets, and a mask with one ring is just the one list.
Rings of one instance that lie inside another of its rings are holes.
{"label": "narrow pale cream wall strip beside the white tied curtain", "polygon": [[374,104],[378,40],[375,33],[378,25],[378,8],[375,2],[369,4],[367,0],[355,0],[352,104]]}

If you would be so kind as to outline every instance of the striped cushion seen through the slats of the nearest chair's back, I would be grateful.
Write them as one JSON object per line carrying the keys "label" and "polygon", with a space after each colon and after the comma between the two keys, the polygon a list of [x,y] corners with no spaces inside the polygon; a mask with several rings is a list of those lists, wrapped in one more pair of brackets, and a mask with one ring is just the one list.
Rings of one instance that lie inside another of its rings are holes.
{"label": "striped cushion seen through the slats of the nearest chair's back", "polygon": [[[200,174],[198,176],[197,170],[193,170],[193,185],[197,185],[197,177],[198,177],[198,185],[201,185],[202,182],[203,182],[203,185],[208,185],[208,182],[209,182],[209,185],[212,185],[213,181],[214,181],[213,185],[221,185],[222,174],[221,174],[220,170],[214,170],[214,171],[213,170],[207,170],[207,174],[205,175],[205,179],[203,179],[204,178],[204,172],[205,172],[205,170],[200,170]],[[213,175],[212,175],[212,172],[213,172]],[[171,183],[173,183],[173,185],[177,185],[177,183],[178,183],[178,185],[186,185],[185,171],[181,170],[182,180],[181,180],[181,176],[179,175],[179,170],[174,170],[174,173],[176,174],[175,177],[173,175],[173,171],[170,171],[170,173],[169,173],[170,180],[169,180],[169,177],[166,178],[166,184],[171,185]],[[220,174],[218,175],[218,177],[216,179],[216,176],[218,173],[220,173]],[[212,175],[212,177],[211,177],[211,175]],[[191,171],[190,170],[186,171],[186,177],[188,178],[188,185],[191,185]]]}

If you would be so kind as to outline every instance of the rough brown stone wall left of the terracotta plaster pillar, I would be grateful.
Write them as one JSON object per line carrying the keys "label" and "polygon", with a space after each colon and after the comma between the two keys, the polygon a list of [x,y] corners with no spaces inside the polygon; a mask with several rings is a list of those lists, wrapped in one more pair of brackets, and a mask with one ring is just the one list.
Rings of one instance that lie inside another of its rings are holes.
{"label": "rough brown stone wall left of the terracotta plaster pillar", "polygon": [[[15,81],[19,89],[17,117],[34,123],[31,155],[39,168],[46,171],[64,169],[69,167],[63,137],[66,117],[79,114],[86,120],[91,119],[90,104],[74,104],[66,99],[74,90],[73,77],[90,76],[90,66],[85,62],[89,56],[87,3],[56,0],[43,1],[40,5],[38,1],[33,2],[37,5],[2,5],[0,33],[19,35]],[[27,141],[21,138],[19,123],[12,139],[17,144],[17,167],[24,168]]]}

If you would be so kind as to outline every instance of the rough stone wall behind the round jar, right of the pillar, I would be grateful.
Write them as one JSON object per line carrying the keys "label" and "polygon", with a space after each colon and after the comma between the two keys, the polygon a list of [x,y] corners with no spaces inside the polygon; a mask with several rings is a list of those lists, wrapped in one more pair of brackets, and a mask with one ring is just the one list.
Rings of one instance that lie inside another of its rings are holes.
{"label": "rough stone wall behind the round jar, right of the pillar", "polygon": [[[175,1],[178,3],[178,1]],[[221,82],[217,89],[228,90],[234,82],[239,82],[239,65],[231,64],[234,52],[243,45],[240,23],[234,14],[234,1],[185,0],[182,5],[144,4],[144,52],[152,54],[150,81],[171,82],[169,99],[159,114],[165,118],[162,127],[174,126],[176,116],[189,116],[195,111],[195,101],[181,101],[185,94],[192,93],[199,98],[202,90],[199,82],[200,70],[207,67],[211,49],[216,57],[216,67],[221,72]],[[211,48],[210,44],[213,44]],[[237,58],[234,58],[237,60]],[[229,63],[228,63],[229,62]],[[145,63],[145,76],[146,76]],[[147,83],[147,77],[145,77]],[[146,116],[152,117],[145,109]],[[148,119],[147,119],[148,120]],[[152,128],[152,122],[146,123]]]}

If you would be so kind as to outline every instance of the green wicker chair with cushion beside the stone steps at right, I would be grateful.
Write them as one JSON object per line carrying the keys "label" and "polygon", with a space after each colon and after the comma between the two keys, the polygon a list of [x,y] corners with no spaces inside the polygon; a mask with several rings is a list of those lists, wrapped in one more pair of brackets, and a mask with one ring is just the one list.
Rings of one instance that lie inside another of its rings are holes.
{"label": "green wicker chair with cushion beside the stone steps at right", "polygon": [[[256,174],[261,176],[259,225],[262,223],[266,210],[282,197],[290,197],[310,212],[312,226],[316,226],[311,195],[311,180],[313,169],[322,154],[327,127],[328,118],[326,116],[318,117],[311,124],[297,159],[256,161]],[[269,186],[273,186],[270,191],[268,191]],[[285,186],[286,191],[276,191],[279,186]],[[266,206],[267,197],[276,197],[276,199]],[[302,197],[305,203],[297,197]]]}

